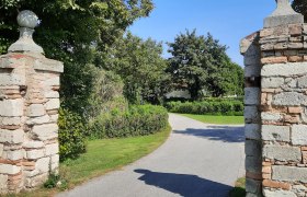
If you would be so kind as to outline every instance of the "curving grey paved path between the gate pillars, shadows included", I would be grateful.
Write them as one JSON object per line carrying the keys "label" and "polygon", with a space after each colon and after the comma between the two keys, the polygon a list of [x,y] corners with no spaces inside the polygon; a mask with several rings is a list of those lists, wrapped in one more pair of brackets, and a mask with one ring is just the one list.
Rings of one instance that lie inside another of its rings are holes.
{"label": "curving grey paved path between the gate pillars, shadows included", "polygon": [[228,196],[243,175],[243,127],[207,125],[174,114],[170,124],[173,132],[154,153],[58,196]]}

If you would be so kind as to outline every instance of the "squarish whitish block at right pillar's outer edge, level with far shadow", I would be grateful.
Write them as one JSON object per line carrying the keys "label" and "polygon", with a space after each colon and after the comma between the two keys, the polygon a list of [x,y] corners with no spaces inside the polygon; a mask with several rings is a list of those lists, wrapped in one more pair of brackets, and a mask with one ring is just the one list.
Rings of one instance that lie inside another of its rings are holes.
{"label": "squarish whitish block at right pillar's outer edge, level with far shadow", "polygon": [[293,125],[291,140],[295,146],[307,146],[307,125]]}

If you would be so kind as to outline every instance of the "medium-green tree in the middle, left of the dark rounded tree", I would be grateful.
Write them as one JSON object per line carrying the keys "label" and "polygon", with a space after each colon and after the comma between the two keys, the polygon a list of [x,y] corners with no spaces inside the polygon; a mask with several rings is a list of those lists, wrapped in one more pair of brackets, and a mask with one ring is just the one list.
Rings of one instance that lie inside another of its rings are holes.
{"label": "medium-green tree in the middle, left of the dark rounded tree", "polygon": [[130,103],[159,103],[168,89],[162,44],[127,33],[118,39],[104,69],[120,74],[125,83],[124,94]]}

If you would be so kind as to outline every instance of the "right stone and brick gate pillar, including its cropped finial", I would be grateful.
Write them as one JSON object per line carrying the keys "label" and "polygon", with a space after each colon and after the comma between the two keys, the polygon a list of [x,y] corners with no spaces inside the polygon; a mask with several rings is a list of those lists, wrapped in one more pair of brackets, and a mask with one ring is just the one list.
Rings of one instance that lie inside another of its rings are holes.
{"label": "right stone and brick gate pillar, including its cropped finial", "polygon": [[[247,196],[307,194],[307,24],[277,0],[241,42],[246,65]],[[260,78],[259,78],[260,77]]]}

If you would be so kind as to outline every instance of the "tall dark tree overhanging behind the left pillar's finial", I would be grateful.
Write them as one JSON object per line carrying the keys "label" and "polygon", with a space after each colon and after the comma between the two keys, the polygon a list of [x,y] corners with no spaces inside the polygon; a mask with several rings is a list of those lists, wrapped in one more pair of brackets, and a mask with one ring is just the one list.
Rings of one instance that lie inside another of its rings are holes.
{"label": "tall dark tree overhanging behind the left pillar's finial", "polygon": [[42,20],[35,42],[47,57],[65,63],[64,105],[82,111],[93,83],[87,65],[152,8],[151,0],[0,0],[0,54],[18,39],[18,12],[34,11]]}

